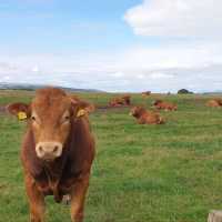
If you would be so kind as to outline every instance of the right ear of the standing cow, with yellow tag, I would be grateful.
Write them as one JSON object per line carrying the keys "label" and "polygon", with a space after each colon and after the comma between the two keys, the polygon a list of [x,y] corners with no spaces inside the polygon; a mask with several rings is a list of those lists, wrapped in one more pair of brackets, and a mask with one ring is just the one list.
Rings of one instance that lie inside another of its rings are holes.
{"label": "right ear of the standing cow, with yellow tag", "polygon": [[74,117],[81,118],[94,111],[94,105],[85,101],[72,101],[74,108]]}

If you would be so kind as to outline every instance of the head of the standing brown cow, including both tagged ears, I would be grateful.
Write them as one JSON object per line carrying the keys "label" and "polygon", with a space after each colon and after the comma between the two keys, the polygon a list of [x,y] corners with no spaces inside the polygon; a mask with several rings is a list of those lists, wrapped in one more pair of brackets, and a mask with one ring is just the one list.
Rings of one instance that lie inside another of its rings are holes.
{"label": "head of the standing brown cow, including both tagged ears", "polygon": [[12,103],[8,111],[20,120],[27,119],[38,158],[52,161],[62,154],[71,127],[91,112],[92,105],[73,100],[63,90],[44,88],[37,91],[30,104]]}

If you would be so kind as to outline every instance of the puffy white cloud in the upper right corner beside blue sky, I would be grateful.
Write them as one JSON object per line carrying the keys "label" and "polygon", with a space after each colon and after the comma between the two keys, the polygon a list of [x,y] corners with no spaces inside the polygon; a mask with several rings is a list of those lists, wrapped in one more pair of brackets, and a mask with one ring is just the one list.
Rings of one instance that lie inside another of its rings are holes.
{"label": "puffy white cloud in the upper right corner beside blue sky", "polygon": [[221,14],[221,0],[143,0],[124,19],[141,36],[218,38]]}

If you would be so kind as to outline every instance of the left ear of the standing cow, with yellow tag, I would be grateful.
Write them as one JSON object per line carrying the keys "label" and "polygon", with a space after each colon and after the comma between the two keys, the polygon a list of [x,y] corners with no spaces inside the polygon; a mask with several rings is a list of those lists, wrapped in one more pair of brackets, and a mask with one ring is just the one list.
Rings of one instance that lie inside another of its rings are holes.
{"label": "left ear of the standing cow, with yellow tag", "polygon": [[26,103],[11,103],[7,105],[7,111],[16,115],[19,120],[26,120],[29,117],[29,104]]}

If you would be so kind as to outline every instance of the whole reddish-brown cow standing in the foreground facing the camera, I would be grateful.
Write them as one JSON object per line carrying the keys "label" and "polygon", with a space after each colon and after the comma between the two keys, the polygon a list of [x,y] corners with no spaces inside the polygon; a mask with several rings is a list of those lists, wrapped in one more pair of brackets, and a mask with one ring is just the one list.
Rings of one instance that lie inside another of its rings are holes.
{"label": "whole reddish-brown cow standing in the foreground facing the camera", "polygon": [[8,105],[10,113],[28,122],[21,162],[31,222],[43,222],[46,195],[56,202],[70,195],[72,222],[83,221],[94,158],[85,105],[56,88],[38,90],[30,104]]}

